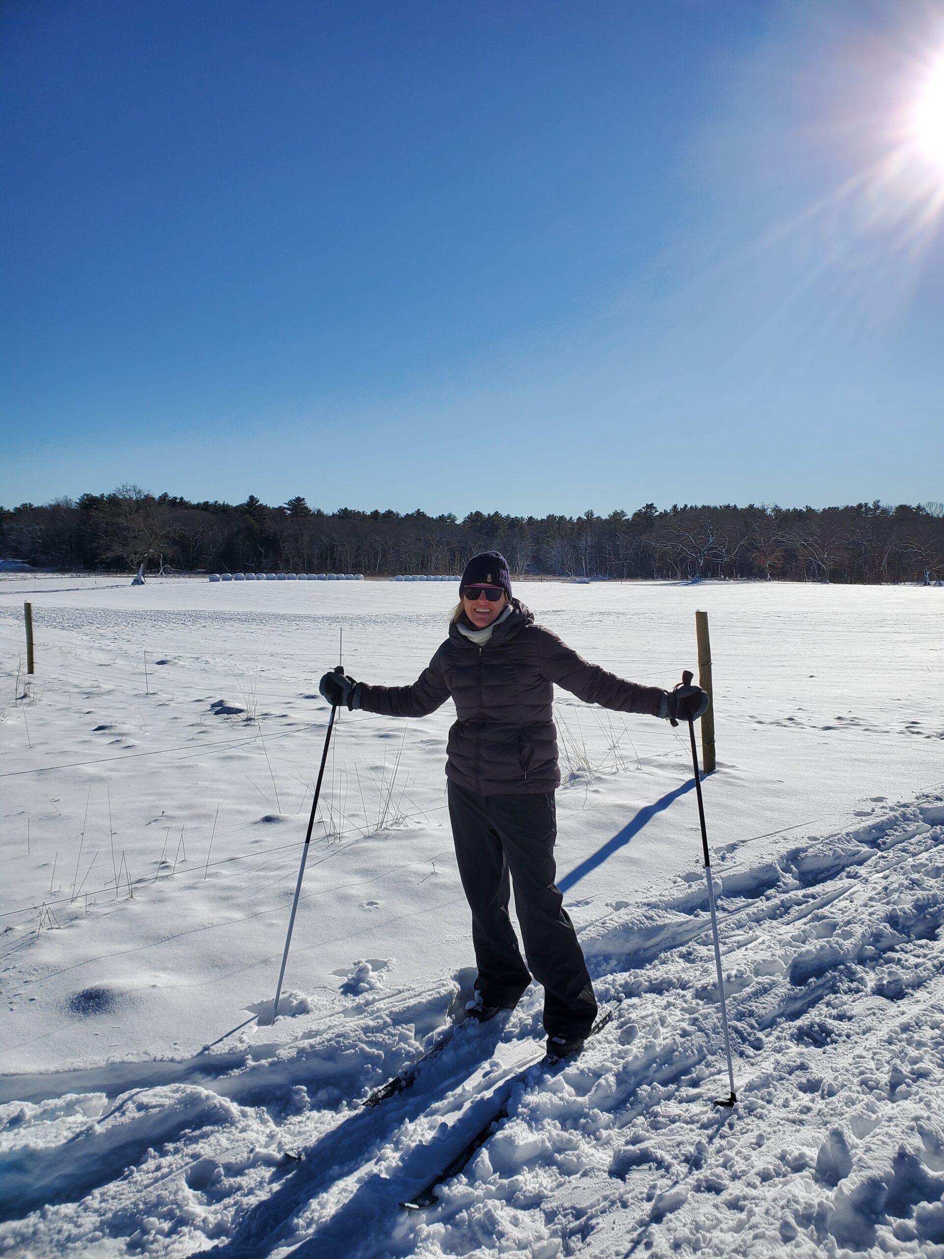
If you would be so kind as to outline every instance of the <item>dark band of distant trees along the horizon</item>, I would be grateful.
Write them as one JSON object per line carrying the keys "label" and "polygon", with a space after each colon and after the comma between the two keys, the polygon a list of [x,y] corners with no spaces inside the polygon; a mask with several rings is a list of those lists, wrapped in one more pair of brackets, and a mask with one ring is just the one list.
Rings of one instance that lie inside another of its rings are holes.
{"label": "dark band of distant trees along the horizon", "polygon": [[303,497],[267,506],[189,502],[120,486],[44,506],[0,507],[0,555],[38,568],[155,572],[456,573],[480,550],[514,573],[602,578],[921,582],[944,577],[944,505],[678,506],[608,516],[472,511],[326,512]]}

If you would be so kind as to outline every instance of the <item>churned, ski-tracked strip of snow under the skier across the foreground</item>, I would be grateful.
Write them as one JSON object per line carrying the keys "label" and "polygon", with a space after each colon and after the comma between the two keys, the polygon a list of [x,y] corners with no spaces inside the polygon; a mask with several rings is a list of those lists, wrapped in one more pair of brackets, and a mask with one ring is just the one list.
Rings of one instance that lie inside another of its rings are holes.
{"label": "churned, ski-tracked strip of snow under the skier across the foreground", "polygon": [[584,930],[615,1020],[515,1085],[422,1216],[399,1200],[534,1056],[535,990],[375,1110],[352,1099],[419,1051],[454,986],[366,1001],[277,1050],[35,1078],[0,1108],[4,1253],[121,1253],[122,1236],[155,1255],[941,1253],[944,803],[716,883],[734,1113],[710,1105],[726,1078],[692,883]]}

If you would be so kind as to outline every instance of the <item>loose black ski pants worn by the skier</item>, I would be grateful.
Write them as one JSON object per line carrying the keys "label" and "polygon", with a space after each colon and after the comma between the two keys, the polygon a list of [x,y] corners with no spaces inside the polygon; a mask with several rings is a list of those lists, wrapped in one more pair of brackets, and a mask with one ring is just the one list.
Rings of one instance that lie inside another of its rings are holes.
{"label": "loose black ski pants worn by the skier", "polygon": [[[486,1005],[511,1005],[534,976],[544,986],[548,1035],[589,1031],[597,1000],[574,924],[554,886],[554,792],[476,796],[451,782],[449,820],[472,910],[482,1000]],[[510,884],[527,966],[509,917]]]}

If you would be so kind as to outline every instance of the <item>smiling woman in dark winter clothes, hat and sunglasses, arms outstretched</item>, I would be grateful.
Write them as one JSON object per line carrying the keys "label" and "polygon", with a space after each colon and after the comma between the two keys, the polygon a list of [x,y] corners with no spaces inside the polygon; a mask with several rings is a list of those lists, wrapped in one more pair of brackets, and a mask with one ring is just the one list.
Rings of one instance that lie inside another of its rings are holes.
{"label": "smiling woman in dark winter clothes, hat and sunglasses, arms outstretched", "polygon": [[[468,1012],[486,1020],[512,1008],[534,976],[544,986],[548,1053],[563,1058],[582,1047],[597,1001],[554,885],[554,684],[588,704],[671,720],[700,716],[707,695],[697,686],[638,686],[588,665],[511,597],[509,565],[497,551],[468,562],[459,590],[449,636],[412,686],[325,674],[321,694],[329,704],[385,716],[425,716],[449,696],[456,701],[446,777],[478,966]],[[527,964],[509,917],[510,879]]]}

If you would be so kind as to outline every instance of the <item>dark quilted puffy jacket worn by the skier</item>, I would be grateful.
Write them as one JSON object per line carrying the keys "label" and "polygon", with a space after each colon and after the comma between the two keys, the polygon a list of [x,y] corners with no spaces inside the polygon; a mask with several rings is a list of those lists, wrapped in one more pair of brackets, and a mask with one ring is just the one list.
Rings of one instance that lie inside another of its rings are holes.
{"label": "dark quilted puffy jacket worn by the skier", "polygon": [[452,695],[446,776],[478,796],[553,791],[560,786],[556,682],[588,704],[658,715],[665,691],[637,686],[588,665],[519,601],[477,647],[458,626],[412,686],[360,686],[360,708],[385,716],[425,716]]}

